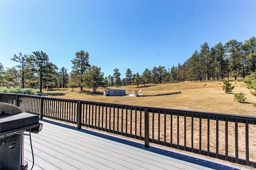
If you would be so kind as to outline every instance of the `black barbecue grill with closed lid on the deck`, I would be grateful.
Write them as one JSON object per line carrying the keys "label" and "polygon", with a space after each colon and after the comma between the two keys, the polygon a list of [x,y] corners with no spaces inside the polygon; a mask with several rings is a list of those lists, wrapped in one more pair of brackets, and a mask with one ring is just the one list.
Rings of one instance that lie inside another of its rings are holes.
{"label": "black barbecue grill with closed lid on the deck", "polygon": [[42,130],[39,117],[24,112],[20,107],[0,102],[0,169],[26,170],[24,161],[24,132]]}

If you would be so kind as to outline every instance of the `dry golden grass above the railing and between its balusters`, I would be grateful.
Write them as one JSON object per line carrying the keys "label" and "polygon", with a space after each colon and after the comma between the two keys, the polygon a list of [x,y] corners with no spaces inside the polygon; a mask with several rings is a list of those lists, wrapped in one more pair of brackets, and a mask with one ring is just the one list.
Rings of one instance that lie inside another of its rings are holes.
{"label": "dry golden grass above the railing and between its balusters", "polygon": [[[80,99],[80,100],[88,100],[88,101],[100,101],[100,102],[108,102],[108,103],[120,103],[120,104],[128,104],[128,105],[141,105],[141,106],[152,106],[152,107],[163,107],[170,109],[182,109],[182,110],[194,110],[194,111],[207,111],[207,112],[215,112],[215,113],[228,113],[228,114],[237,114],[237,115],[256,115],[256,106],[253,103],[256,103],[256,97],[254,97],[250,93],[250,89],[246,88],[246,84],[243,82],[232,82],[232,85],[235,85],[233,90],[233,94],[226,94],[222,90],[223,83],[219,81],[215,82],[184,82],[184,83],[173,83],[173,84],[161,84],[161,85],[146,85],[146,87],[136,86],[126,86],[126,87],[112,87],[112,89],[126,89],[126,93],[133,93],[135,90],[142,89],[142,93],[145,95],[156,95],[162,93],[173,93],[177,91],[181,91],[181,94],[177,95],[163,95],[163,96],[148,96],[148,97],[120,97],[120,96],[111,96],[106,97],[101,95],[92,95],[88,94],[90,89],[84,89],[86,92],[80,93],[80,89],[56,89],[53,91],[43,91],[44,95],[50,95],[52,97],[58,98],[66,98],[66,99]],[[99,92],[103,92],[104,89],[98,89]],[[239,93],[242,91],[247,100],[245,103],[237,103],[234,101],[234,93]],[[117,117],[117,116],[116,116]],[[128,124],[130,122],[130,115],[128,115]],[[134,114],[132,114],[133,124],[135,122]],[[163,118],[160,117],[162,120]],[[167,122],[169,122],[170,118],[167,117]],[[177,125],[177,118],[173,117],[173,142],[177,142],[177,129],[174,128]],[[179,121],[179,143],[184,144],[184,118],[180,117]],[[143,119],[142,119],[143,120]],[[154,138],[158,139],[158,116],[154,117]],[[119,120],[121,121],[121,119]],[[207,150],[207,123],[204,122],[207,120],[202,120],[202,149]],[[104,121],[105,122],[105,121]],[[112,121],[114,122],[114,121]],[[152,115],[150,116],[150,134],[152,135]],[[161,127],[163,121],[161,122]],[[142,123],[143,124],[143,123]],[[169,123],[170,124],[170,123]],[[176,126],[175,126],[176,125]],[[109,124],[107,125],[107,127]],[[111,128],[113,125],[110,125]],[[120,125],[119,125],[120,126]],[[132,134],[135,133],[134,125],[132,129]],[[143,125],[144,126],[144,125]],[[238,124],[239,132],[239,157],[245,158],[245,146],[244,146],[244,136],[245,136],[245,128],[244,124]],[[216,139],[215,139],[215,127],[216,121],[210,121],[210,151],[215,152],[216,148]],[[121,127],[119,127],[121,128]],[[199,147],[199,120],[194,120],[194,147]],[[228,152],[229,155],[234,156],[234,123],[228,124],[229,134],[228,134]],[[249,136],[250,136],[250,160],[256,161],[256,138],[254,138],[255,134],[255,126],[250,125],[249,127]],[[191,133],[191,118],[186,118],[186,143],[187,146],[191,144],[191,136],[188,135]],[[164,140],[164,136],[162,133],[162,128],[160,129],[161,136],[160,140]],[[167,126],[166,131],[170,131],[170,126]],[[225,153],[225,125],[223,122],[219,124],[219,152],[220,154]],[[137,132],[139,133],[139,132]],[[142,131],[142,136],[144,135],[144,131]],[[152,136],[150,136],[152,138]],[[167,142],[170,142],[170,133],[166,134]],[[209,157],[208,157],[209,158]]]}

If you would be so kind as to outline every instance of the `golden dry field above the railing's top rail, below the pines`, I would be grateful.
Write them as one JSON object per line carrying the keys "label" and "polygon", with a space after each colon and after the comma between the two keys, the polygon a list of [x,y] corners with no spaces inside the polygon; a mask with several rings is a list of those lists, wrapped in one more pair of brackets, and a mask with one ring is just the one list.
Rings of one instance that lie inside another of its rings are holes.
{"label": "golden dry field above the railing's top rail, below the pines", "polygon": [[[144,86],[123,86],[110,87],[108,89],[126,89],[126,94],[133,93],[135,90],[142,89],[144,95],[156,95],[162,93],[173,93],[181,91],[181,94],[146,96],[146,97],[122,97],[122,96],[104,96],[103,88],[98,88],[102,94],[92,95],[92,89],[84,88],[80,93],[80,88],[73,91],[71,89],[43,90],[44,95],[65,99],[81,99],[89,101],[101,101],[108,103],[120,103],[128,105],[164,107],[170,109],[207,111],[215,113],[228,113],[236,115],[256,116],[256,97],[250,93],[250,89],[243,82],[232,82],[235,85],[233,92],[224,93],[223,83],[220,81],[212,82],[183,82],[160,85]],[[247,97],[244,103],[234,101],[234,94],[243,92]]]}

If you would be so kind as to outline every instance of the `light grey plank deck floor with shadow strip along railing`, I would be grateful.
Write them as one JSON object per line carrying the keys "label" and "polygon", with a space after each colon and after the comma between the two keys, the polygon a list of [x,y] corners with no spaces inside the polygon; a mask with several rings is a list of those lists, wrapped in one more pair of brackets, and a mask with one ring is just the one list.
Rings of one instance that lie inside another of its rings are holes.
{"label": "light grey plank deck floor with shadow strip along railing", "polygon": [[[229,164],[176,152],[94,130],[42,120],[43,130],[32,133],[33,170],[227,169]],[[32,166],[29,136],[24,139],[24,160]]]}

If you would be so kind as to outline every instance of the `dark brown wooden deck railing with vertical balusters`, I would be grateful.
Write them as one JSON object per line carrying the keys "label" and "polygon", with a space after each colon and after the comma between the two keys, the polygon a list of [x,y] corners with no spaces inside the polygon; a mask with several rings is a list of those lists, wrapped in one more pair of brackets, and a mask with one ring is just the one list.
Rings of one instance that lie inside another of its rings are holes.
{"label": "dark brown wooden deck railing with vertical balusters", "polygon": [[28,113],[256,167],[256,117],[0,93]]}

